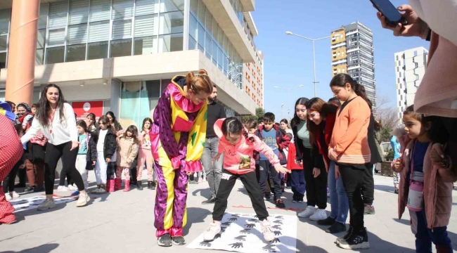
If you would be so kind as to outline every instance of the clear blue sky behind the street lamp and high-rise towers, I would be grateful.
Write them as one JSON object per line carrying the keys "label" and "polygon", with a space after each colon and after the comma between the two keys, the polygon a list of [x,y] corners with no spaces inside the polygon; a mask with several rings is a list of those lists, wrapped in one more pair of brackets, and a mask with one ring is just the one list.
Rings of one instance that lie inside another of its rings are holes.
{"label": "clear blue sky behind the street lamp and high-rise towers", "polygon": [[[392,4],[400,6],[407,1],[392,0]],[[330,36],[331,30],[356,20],[370,27],[375,46],[377,96],[390,98],[390,107],[397,103],[394,53],[429,46],[429,42],[420,38],[394,37],[390,30],[383,29],[369,0],[257,0],[255,5],[252,17],[259,36],[254,40],[257,48],[264,52],[264,108],[273,112],[278,122],[282,103],[284,117],[288,115],[288,108],[292,116],[297,98],[314,96],[312,42],[288,36],[285,31],[317,39]],[[332,79],[330,39],[316,41],[316,76],[320,82],[317,96],[328,100],[332,96],[328,86]],[[290,98],[287,91],[274,88],[292,88],[300,84],[304,86],[292,90]]]}

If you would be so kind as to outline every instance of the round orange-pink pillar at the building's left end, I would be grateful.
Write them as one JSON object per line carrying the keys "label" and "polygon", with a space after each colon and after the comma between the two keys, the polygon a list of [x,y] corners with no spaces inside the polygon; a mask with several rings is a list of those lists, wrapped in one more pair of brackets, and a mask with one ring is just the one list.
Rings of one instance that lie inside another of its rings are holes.
{"label": "round orange-pink pillar at the building's left end", "polygon": [[13,0],[6,100],[32,104],[40,0]]}

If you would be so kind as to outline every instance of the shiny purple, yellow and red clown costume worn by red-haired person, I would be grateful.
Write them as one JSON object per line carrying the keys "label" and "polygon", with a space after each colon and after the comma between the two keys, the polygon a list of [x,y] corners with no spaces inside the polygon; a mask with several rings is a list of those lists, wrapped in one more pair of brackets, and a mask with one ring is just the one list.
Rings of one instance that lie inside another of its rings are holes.
{"label": "shiny purple, yellow and red clown costume worn by red-haired person", "polygon": [[202,170],[207,102],[195,105],[184,92],[186,77],[176,76],[162,94],[150,130],[157,173],[155,196],[156,236],[183,236],[187,212],[187,172]]}

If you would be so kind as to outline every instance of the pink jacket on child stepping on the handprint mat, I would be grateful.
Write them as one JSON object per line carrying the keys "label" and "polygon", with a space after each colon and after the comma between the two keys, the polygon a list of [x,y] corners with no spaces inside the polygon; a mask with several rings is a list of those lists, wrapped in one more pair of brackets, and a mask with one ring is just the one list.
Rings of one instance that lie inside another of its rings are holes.
{"label": "pink jacket on child stepping on the handprint mat", "polygon": [[[233,174],[246,174],[255,171],[254,150],[264,154],[273,166],[279,164],[279,159],[273,150],[254,134],[249,134],[248,139],[241,135],[241,139],[236,145],[228,143],[222,134],[223,122],[224,119],[217,120],[214,124],[214,132],[221,139],[218,153],[224,153],[224,169]],[[247,132],[247,129],[245,131]]]}

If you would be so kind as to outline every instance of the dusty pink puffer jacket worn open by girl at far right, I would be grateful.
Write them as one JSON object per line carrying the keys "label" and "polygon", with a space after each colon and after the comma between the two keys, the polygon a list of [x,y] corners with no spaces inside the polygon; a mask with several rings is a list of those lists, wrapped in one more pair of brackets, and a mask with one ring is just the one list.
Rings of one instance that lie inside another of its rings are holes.
{"label": "dusty pink puffer jacket worn open by girl at far right", "polygon": [[[409,182],[407,179],[408,174],[411,173],[409,168],[412,157],[411,150],[416,140],[411,140],[408,136],[401,136],[399,141],[403,150],[400,159],[404,166],[400,173],[398,197],[398,215],[399,219],[401,219],[401,215],[404,213],[406,204],[408,203]],[[451,167],[442,169],[432,164],[432,160],[430,159],[431,150],[432,143],[427,148],[423,163],[424,208],[427,226],[430,229],[449,224],[452,208],[452,182],[457,180],[457,175],[454,174]]]}

